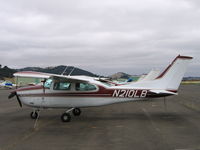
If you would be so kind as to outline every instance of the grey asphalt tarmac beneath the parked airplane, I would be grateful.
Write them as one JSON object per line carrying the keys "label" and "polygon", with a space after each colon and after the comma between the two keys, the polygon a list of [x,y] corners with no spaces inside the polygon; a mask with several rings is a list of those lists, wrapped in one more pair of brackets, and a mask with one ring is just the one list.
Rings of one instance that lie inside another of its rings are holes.
{"label": "grey asphalt tarmac beneath the parked airplane", "polygon": [[182,85],[179,96],[82,109],[69,123],[64,110],[31,108],[0,90],[0,150],[200,150],[200,86]]}

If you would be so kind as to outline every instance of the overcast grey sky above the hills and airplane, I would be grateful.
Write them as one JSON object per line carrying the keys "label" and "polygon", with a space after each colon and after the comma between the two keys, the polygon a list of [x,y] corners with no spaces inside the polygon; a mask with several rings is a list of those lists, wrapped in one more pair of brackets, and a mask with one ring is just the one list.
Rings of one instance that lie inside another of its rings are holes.
{"label": "overcast grey sky above the hills and airplane", "polygon": [[142,74],[178,54],[200,76],[199,0],[0,0],[3,66]]}

